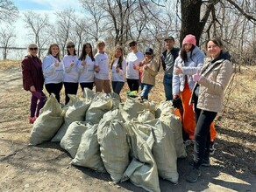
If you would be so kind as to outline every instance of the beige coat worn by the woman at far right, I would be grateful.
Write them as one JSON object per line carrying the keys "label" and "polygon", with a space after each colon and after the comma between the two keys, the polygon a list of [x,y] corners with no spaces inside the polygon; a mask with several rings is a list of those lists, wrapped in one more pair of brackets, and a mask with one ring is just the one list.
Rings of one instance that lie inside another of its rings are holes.
{"label": "beige coat worn by the woman at far right", "polygon": [[218,113],[223,109],[224,90],[231,79],[233,67],[231,62],[224,58],[209,65],[210,60],[206,59],[201,71],[201,79],[198,81],[200,88],[197,108]]}

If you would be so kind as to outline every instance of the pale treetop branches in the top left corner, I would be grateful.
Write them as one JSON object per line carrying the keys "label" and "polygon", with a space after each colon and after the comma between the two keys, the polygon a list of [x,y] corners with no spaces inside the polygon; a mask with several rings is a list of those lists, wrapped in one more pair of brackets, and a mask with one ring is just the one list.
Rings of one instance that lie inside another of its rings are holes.
{"label": "pale treetop branches in the top left corner", "polygon": [[18,9],[11,0],[0,0],[0,24],[11,22],[18,16]]}

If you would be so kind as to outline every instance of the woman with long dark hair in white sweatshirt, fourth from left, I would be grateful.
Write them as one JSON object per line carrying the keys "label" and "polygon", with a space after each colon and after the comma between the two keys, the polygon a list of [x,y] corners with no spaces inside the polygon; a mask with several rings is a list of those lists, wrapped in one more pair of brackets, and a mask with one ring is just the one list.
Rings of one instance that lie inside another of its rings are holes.
{"label": "woman with long dark hair in white sweatshirt, fourth from left", "polygon": [[89,43],[82,45],[82,53],[78,60],[78,71],[80,73],[78,82],[82,88],[89,88],[92,90],[95,78],[95,58],[92,53],[92,46]]}

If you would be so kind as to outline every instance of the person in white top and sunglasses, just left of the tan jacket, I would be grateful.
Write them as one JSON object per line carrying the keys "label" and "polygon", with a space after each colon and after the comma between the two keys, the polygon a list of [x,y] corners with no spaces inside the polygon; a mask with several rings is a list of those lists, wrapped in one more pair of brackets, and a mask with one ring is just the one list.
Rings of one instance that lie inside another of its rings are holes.
{"label": "person in white top and sunglasses, just left of the tan jacket", "polygon": [[126,79],[129,86],[130,92],[139,91],[139,71],[137,68],[140,62],[144,59],[144,54],[138,51],[138,45],[136,41],[129,43],[130,49],[132,50],[126,57]]}

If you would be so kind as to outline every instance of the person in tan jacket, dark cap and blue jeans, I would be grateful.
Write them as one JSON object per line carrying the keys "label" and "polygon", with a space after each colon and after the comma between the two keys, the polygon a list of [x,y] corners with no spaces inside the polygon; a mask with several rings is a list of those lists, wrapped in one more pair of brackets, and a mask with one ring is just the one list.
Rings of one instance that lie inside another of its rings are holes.
{"label": "person in tan jacket, dark cap and blue jeans", "polygon": [[155,76],[158,74],[159,65],[153,59],[153,49],[146,48],[145,59],[141,62],[140,70],[142,71],[141,77],[141,99],[148,99],[148,94],[150,93],[153,86],[155,86]]}

